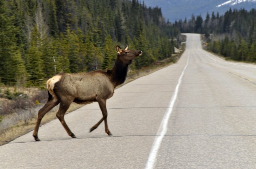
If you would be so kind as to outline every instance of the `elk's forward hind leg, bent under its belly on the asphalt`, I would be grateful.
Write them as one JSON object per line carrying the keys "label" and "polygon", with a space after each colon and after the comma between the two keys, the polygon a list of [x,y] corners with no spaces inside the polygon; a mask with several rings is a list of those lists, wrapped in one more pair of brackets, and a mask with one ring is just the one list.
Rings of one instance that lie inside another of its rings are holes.
{"label": "elk's forward hind leg, bent under its belly on the asphalt", "polygon": [[59,118],[59,120],[60,120],[61,124],[63,125],[64,129],[67,131],[67,134],[69,136],[71,136],[72,138],[76,138],[76,136],[74,135],[74,133],[71,132],[71,130],[67,126],[67,123],[64,120],[65,112],[67,111],[67,109],[69,108],[71,103],[63,103],[63,102],[61,102],[59,111],[57,112],[56,116],[57,116],[57,118]]}

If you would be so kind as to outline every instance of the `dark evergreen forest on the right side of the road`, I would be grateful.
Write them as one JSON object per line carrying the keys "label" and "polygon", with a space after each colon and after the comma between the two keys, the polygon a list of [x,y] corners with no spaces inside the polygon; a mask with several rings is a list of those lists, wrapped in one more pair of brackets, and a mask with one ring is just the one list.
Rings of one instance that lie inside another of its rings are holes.
{"label": "dark evergreen forest on the right side of the road", "polygon": [[227,59],[256,62],[256,9],[233,9],[176,21],[180,32],[205,34],[207,49]]}

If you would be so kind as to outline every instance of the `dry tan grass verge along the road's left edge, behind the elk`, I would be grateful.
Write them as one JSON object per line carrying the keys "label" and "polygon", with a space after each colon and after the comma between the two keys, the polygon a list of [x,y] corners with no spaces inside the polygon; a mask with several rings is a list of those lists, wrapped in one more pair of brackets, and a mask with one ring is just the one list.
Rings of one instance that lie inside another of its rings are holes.
{"label": "dry tan grass verge along the road's left edge, behind the elk", "polygon": [[[182,44],[182,46],[180,47],[180,50],[181,50],[180,53],[174,54],[170,58],[167,58],[163,61],[158,61],[151,66],[143,67],[143,68],[141,68],[141,70],[136,70],[135,72],[128,72],[128,76],[127,76],[124,84],[176,63],[185,50],[185,44]],[[120,85],[119,87],[121,87],[121,86],[122,85]],[[45,95],[46,95],[46,92],[45,92]],[[46,99],[44,99],[44,100],[45,101],[42,101],[41,106],[43,106],[44,103],[46,102]],[[34,99],[34,104],[38,105],[38,104],[40,104],[40,101],[38,101],[37,99]],[[84,106],[84,105],[72,103],[71,106],[69,107],[69,109],[67,110],[66,114],[69,112],[72,112],[82,106]],[[39,108],[41,108],[41,107],[37,106],[38,110],[39,110]],[[41,125],[48,123],[51,120],[56,119],[56,112],[58,111],[58,108],[59,108],[59,106],[56,106],[50,112],[48,112],[43,117],[43,119],[41,121]],[[38,110],[37,110],[37,112],[38,112]],[[17,116],[17,113],[9,113],[9,114],[5,114],[5,115],[0,115],[0,123],[1,123],[1,120],[3,122],[4,119],[15,119],[15,118],[17,118],[16,116]],[[8,127],[7,129],[5,129],[2,132],[0,130],[0,146],[7,144],[7,143],[11,142],[13,139],[32,131],[35,127],[36,118],[37,118],[37,113],[36,114],[30,113],[27,118],[24,118],[22,120],[17,120],[15,125],[11,125],[10,127]],[[31,139],[33,139],[32,135],[31,135]]]}

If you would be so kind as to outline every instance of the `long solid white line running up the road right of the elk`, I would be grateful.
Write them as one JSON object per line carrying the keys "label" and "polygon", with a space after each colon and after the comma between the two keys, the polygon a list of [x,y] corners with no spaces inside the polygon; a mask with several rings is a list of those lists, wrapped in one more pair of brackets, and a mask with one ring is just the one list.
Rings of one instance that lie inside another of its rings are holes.
{"label": "long solid white line running up the road right of the elk", "polygon": [[169,107],[166,110],[165,115],[163,116],[161,125],[158,129],[157,135],[156,135],[155,140],[154,140],[154,144],[151,148],[150,155],[148,157],[148,162],[146,164],[145,169],[152,169],[154,167],[154,164],[155,164],[155,161],[156,161],[156,155],[158,153],[158,149],[161,146],[163,137],[165,137],[165,134],[167,132],[167,125],[168,125],[169,117],[171,115],[172,109],[174,107],[174,103],[175,103],[177,95],[178,95],[178,91],[179,91],[180,84],[182,82],[182,77],[184,75],[184,71],[186,70],[188,65],[189,65],[189,56],[188,56],[188,59],[187,59],[187,64],[185,65],[185,67],[184,67],[184,69],[183,69],[183,71],[180,75],[180,78],[178,80],[178,84],[175,88],[174,94],[171,97]]}

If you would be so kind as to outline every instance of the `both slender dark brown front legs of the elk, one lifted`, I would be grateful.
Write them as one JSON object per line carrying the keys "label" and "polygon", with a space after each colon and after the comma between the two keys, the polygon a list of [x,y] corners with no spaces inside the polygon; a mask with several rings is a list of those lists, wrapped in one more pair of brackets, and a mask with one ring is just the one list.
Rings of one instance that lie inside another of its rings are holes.
{"label": "both slender dark brown front legs of the elk, one lifted", "polygon": [[102,112],[102,118],[100,119],[100,121],[98,123],[96,123],[93,127],[91,127],[91,130],[90,132],[92,132],[93,130],[95,130],[99,125],[100,123],[102,123],[102,121],[104,120],[104,123],[105,123],[105,132],[108,134],[108,135],[112,135],[111,132],[108,130],[108,122],[107,122],[107,117],[108,117],[108,112],[106,110],[106,100],[104,99],[99,99],[97,100],[98,103],[99,103],[99,106],[100,106],[100,110]]}

